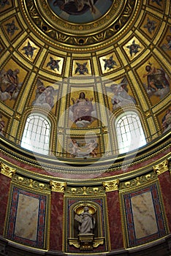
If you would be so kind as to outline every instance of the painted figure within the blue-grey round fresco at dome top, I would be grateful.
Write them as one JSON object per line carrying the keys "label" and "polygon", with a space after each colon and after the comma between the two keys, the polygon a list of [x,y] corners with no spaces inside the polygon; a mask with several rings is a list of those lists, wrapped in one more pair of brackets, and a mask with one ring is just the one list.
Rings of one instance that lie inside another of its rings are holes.
{"label": "painted figure within the blue-grey round fresco at dome top", "polygon": [[53,6],[58,6],[70,15],[80,15],[87,10],[91,10],[92,13],[96,12],[94,0],[56,0]]}

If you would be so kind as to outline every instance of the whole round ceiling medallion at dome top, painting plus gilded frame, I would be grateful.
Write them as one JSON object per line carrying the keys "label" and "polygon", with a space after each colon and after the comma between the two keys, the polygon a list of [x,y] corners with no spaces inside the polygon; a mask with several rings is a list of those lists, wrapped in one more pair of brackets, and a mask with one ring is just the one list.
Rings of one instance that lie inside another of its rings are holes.
{"label": "whole round ceiling medallion at dome top, painting plus gilded frame", "polygon": [[83,50],[121,37],[132,26],[140,4],[137,0],[23,0],[21,7],[34,33],[53,45]]}

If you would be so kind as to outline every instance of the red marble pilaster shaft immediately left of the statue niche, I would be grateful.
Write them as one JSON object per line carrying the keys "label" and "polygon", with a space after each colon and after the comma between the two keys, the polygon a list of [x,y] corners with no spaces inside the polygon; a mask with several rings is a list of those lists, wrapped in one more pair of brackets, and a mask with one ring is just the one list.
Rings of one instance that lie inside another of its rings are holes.
{"label": "red marble pilaster shaft immediately left of the statue niche", "polygon": [[50,250],[62,250],[64,195],[52,192],[50,213]]}

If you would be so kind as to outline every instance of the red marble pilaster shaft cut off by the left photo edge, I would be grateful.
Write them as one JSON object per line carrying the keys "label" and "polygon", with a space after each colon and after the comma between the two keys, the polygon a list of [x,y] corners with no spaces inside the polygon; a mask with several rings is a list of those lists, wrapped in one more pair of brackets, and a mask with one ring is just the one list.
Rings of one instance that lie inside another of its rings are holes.
{"label": "red marble pilaster shaft cut off by the left photo edge", "polygon": [[11,178],[0,174],[0,235],[3,235]]}

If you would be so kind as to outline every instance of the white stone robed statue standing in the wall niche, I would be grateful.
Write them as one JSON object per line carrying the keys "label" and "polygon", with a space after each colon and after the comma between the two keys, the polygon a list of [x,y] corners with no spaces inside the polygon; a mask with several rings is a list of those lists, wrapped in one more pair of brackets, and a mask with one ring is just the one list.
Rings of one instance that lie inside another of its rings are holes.
{"label": "white stone robed statue standing in the wall niche", "polygon": [[95,219],[91,213],[89,213],[88,206],[84,206],[83,213],[75,214],[75,220],[79,222],[78,230],[79,234],[93,234],[95,227]]}

